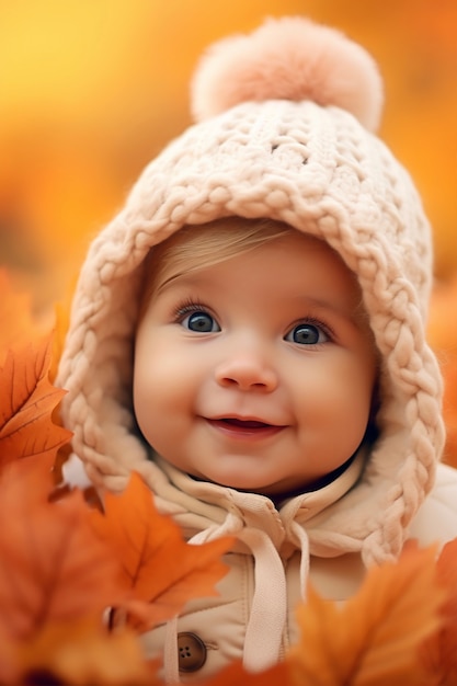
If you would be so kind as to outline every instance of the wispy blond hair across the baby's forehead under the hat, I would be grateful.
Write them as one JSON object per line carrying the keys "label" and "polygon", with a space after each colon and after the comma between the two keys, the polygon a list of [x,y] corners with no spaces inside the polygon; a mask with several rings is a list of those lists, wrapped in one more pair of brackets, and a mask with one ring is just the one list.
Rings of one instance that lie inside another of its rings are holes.
{"label": "wispy blond hair across the baby's forehead under the hat", "polygon": [[225,217],[208,224],[184,226],[165,241],[151,248],[145,260],[139,320],[151,296],[164,279],[213,266],[290,231],[295,229],[281,221],[242,217]]}

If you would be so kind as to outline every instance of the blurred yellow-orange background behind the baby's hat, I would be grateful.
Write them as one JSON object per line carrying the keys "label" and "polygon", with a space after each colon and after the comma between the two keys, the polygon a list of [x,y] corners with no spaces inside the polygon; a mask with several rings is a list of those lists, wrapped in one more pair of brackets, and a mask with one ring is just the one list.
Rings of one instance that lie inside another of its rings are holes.
{"label": "blurred yellow-orange background behind the baby's hat", "polygon": [[283,14],[341,28],[379,64],[380,135],[435,231],[430,335],[457,465],[456,0],[0,0],[0,266],[37,319],[53,312],[142,167],[191,123],[204,48]]}

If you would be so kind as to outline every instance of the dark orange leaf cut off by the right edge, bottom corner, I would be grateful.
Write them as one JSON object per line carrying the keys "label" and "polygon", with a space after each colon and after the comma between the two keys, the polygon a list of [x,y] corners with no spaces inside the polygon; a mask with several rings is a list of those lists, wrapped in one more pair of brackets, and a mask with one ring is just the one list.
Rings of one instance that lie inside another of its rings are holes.
{"label": "dark orange leaf cut off by the right edge, bottom corner", "polygon": [[429,684],[457,684],[457,539],[446,544],[436,564],[438,584],[446,591],[441,608],[442,626],[421,647],[421,659],[430,675]]}

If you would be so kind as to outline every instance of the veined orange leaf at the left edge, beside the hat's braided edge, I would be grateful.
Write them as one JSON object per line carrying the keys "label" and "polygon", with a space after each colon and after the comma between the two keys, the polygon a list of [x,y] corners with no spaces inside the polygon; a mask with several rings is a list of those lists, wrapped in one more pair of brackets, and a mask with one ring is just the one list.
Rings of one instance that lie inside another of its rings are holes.
{"label": "veined orange leaf at the left edge, beside the hat's braided edge", "polygon": [[50,385],[52,336],[9,351],[0,369],[0,466],[23,457],[54,457],[71,433],[53,421],[65,391]]}

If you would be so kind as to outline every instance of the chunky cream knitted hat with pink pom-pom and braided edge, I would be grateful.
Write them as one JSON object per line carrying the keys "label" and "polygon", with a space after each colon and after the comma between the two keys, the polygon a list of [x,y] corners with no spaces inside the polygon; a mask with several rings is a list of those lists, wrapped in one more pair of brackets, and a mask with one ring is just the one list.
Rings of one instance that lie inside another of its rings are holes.
{"label": "chunky cream knitted hat with pink pom-pom and braided edge", "polygon": [[214,45],[192,85],[198,123],[145,169],[80,274],[57,378],[75,453],[96,485],[122,490],[132,469],[148,478],[132,377],[150,248],[184,224],[284,221],[327,241],[356,274],[381,355],[380,435],[327,528],[344,537],[347,510],[352,522],[358,512],[365,559],[397,554],[432,488],[444,431],[424,340],[430,227],[408,173],[372,133],[382,101],[376,65],[341,33],[284,18]]}

